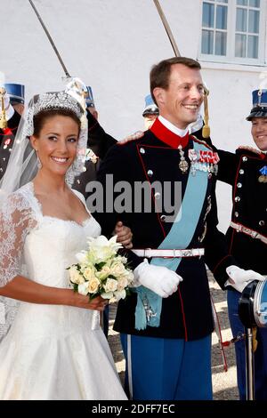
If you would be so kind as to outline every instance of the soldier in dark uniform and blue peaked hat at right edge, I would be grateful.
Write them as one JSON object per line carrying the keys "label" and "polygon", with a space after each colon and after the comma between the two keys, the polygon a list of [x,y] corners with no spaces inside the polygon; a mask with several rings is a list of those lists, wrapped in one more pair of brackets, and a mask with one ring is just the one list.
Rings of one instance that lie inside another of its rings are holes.
{"label": "soldier in dark uniform and blue peaked hat at right edge", "polygon": [[[219,150],[218,180],[232,186],[231,225],[227,230],[228,253],[244,269],[267,275],[267,90],[253,92],[253,109],[247,117],[257,149],[239,147],[235,154]],[[220,265],[214,276],[222,276]],[[234,336],[244,332],[239,319],[240,293],[230,288],[228,309]],[[255,350],[255,399],[267,399],[267,329],[257,330]],[[240,399],[246,399],[245,342],[235,343]]]}

